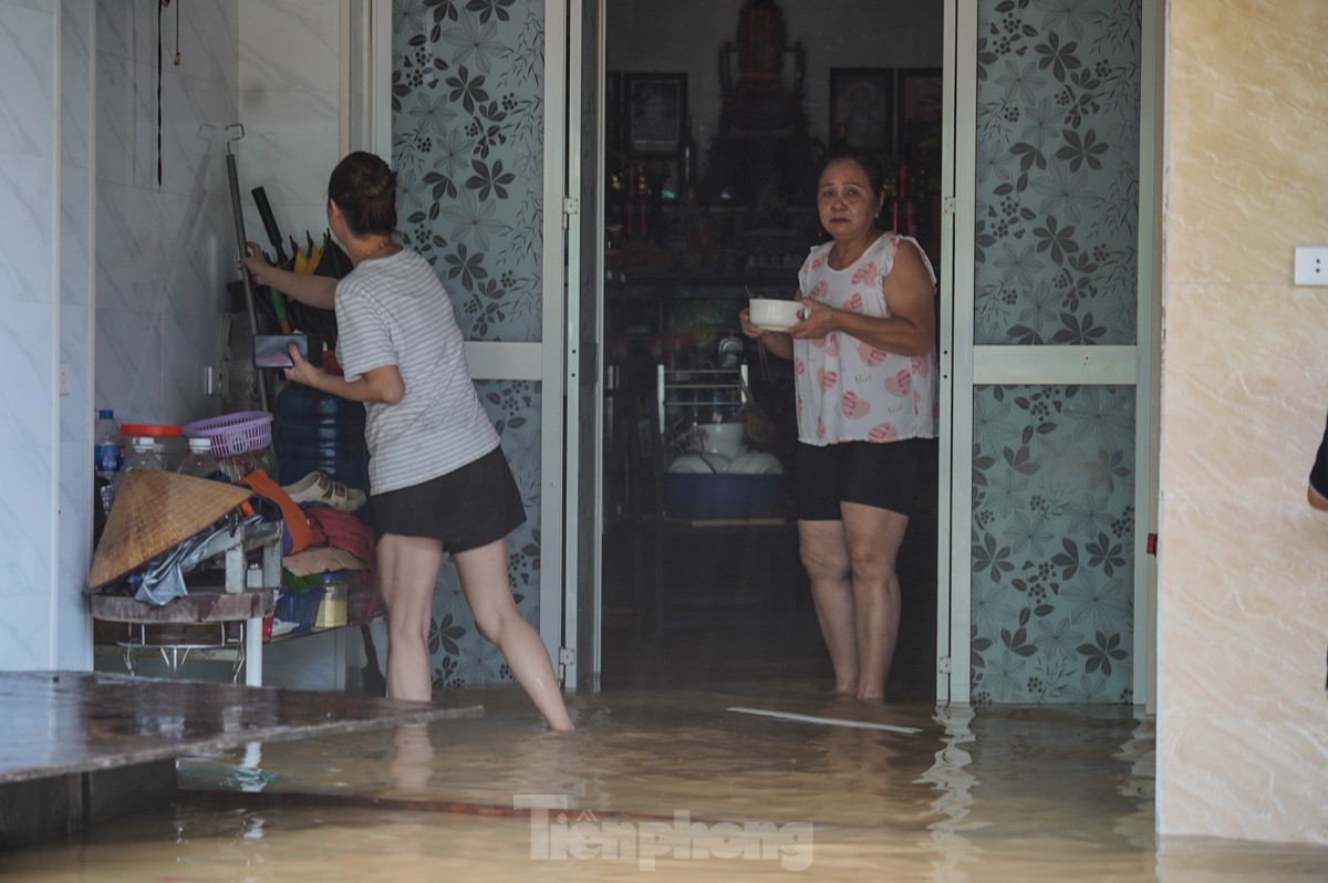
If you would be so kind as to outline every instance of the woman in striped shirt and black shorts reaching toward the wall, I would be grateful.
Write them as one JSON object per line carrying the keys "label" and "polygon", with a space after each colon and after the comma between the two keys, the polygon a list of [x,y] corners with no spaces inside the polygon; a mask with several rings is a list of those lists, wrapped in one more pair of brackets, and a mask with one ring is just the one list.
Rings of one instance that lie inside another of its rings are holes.
{"label": "woman in striped shirt and black shorts reaching toward the wall", "polygon": [[260,284],[335,308],[344,376],[299,357],[286,377],[364,402],[378,586],[388,607],[388,694],[428,701],[433,590],[450,552],[481,633],[498,645],[550,729],[572,729],[539,633],[517,609],[507,535],[526,510],[466,368],[452,299],[429,262],[392,236],[396,174],[357,151],[328,181],[328,226],[355,270],[341,280],[244,264]]}

